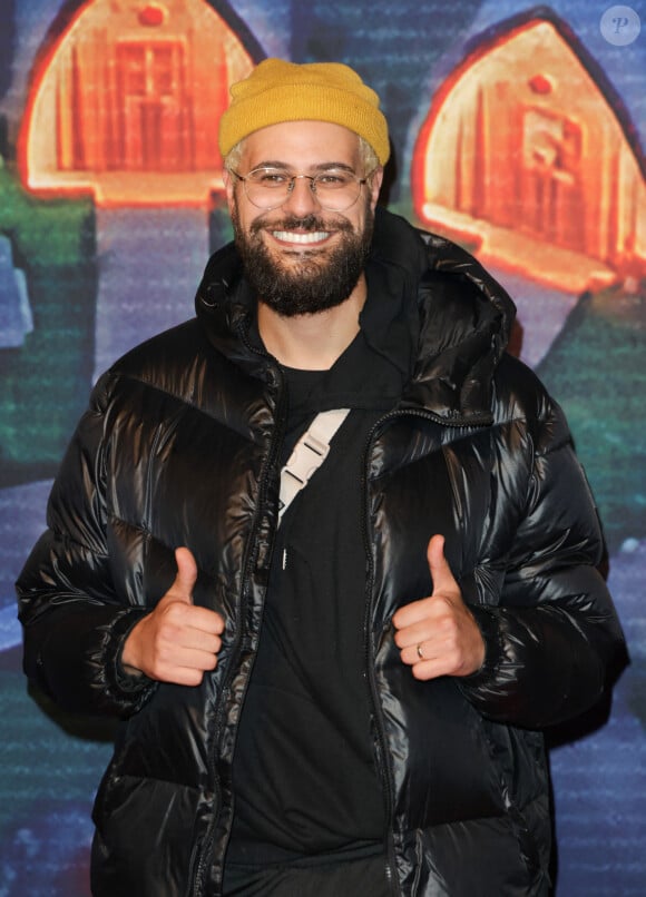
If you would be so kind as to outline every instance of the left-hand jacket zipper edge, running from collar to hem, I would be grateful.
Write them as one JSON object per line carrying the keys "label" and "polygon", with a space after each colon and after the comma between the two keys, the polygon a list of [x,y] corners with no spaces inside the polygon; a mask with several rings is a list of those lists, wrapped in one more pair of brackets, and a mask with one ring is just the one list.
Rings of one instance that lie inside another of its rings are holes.
{"label": "left-hand jacket zipper edge, running from collar to hem", "polygon": [[[268,362],[272,362],[272,356],[268,353],[262,352],[261,349],[257,349],[255,346],[253,346],[248,342],[247,335],[246,335],[246,332],[245,332],[244,322],[241,322],[237,325],[236,329],[238,332],[237,335],[241,338],[241,342],[245,345],[245,347],[247,349],[249,349],[249,352],[253,352],[256,355],[261,355],[262,357],[265,357]],[[284,428],[284,422],[282,420],[283,418],[282,412],[283,412],[283,406],[284,406],[284,395],[285,395],[285,390],[284,390],[284,384],[283,384],[283,376],[282,376],[281,369],[280,369],[280,367],[277,365],[274,366],[272,364],[270,366],[270,371],[272,372],[273,378],[274,378],[274,382],[273,382],[272,385],[277,386],[278,398],[277,398],[277,402],[276,402],[276,414],[275,414],[275,420],[276,420],[277,426],[274,428],[272,442],[270,444],[270,451],[267,453],[267,459],[265,461],[264,470],[261,473],[261,477],[260,477],[260,482],[258,482],[258,502],[257,502],[257,506],[256,506],[256,510],[255,510],[254,523],[253,523],[253,526],[251,529],[249,541],[248,541],[248,544],[252,548],[251,548],[251,550],[249,550],[249,552],[248,552],[248,554],[246,556],[246,561],[244,563],[244,574],[243,574],[243,578],[242,578],[242,581],[241,581],[241,601],[239,601],[241,627],[239,627],[239,630],[238,630],[238,634],[236,637],[235,644],[234,644],[233,650],[232,650],[232,657],[231,657],[231,660],[229,660],[227,674],[226,674],[226,677],[224,679],[224,682],[223,682],[222,697],[221,697],[221,700],[218,702],[217,714],[216,714],[215,723],[214,723],[214,735],[215,735],[214,743],[216,745],[217,748],[219,748],[221,738],[222,738],[224,708],[228,703],[229,687],[231,687],[231,681],[232,681],[233,676],[234,676],[233,671],[235,671],[236,666],[237,666],[237,660],[238,660],[239,653],[241,653],[241,642],[242,642],[242,639],[243,639],[243,635],[244,635],[244,627],[242,624],[242,621],[244,621],[244,619],[245,619],[246,605],[247,605],[247,600],[248,600],[248,589],[249,589],[249,583],[251,583],[251,579],[252,579],[252,571],[253,571],[254,563],[255,563],[255,558],[256,558],[257,529],[258,529],[258,520],[261,519],[261,509],[265,507],[265,505],[266,505],[265,496],[266,496],[267,483],[268,483],[268,473],[267,472],[272,470],[272,467],[274,465],[274,462],[275,462],[275,460],[276,460],[276,457],[278,455],[278,450],[280,450],[280,445],[281,445],[281,434],[282,434],[282,431]],[[248,678],[247,678],[247,682],[248,682]],[[245,690],[246,690],[246,683],[245,683]],[[244,696],[243,696],[243,702],[244,702]],[[232,762],[233,762],[233,757],[232,757]],[[219,783],[219,776],[217,775],[217,770],[216,770],[216,766],[215,766],[215,756],[214,756],[213,752],[209,755],[209,758],[208,758],[208,772],[209,772],[211,780],[213,781],[213,790],[214,790],[214,795],[215,795],[215,805],[217,806],[218,809],[217,809],[216,816],[214,816],[213,819],[209,822],[208,830],[206,832],[202,849],[199,850],[199,860],[198,860],[197,870],[196,870],[196,874],[195,874],[195,877],[194,877],[194,886],[193,886],[193,895],[194,895],[194,897],[199,897],[199,895],[202,895],[203,890],[204,890],[204,874],[205,874],[207,862],[211,861],[211,856],[212,856],[212,852],[213,852],[213,846],[214,846],[214,841],[215,841],[215,830],[217,828],[217,824],[219,821],[219,816],[221,816],[221,812],[222,812],[222,790],[221,790],[221,783]],[[227,837],[228,837],[228,832],[227,832]],[[223,859],[224,859],[224,855],[223,855]]]}

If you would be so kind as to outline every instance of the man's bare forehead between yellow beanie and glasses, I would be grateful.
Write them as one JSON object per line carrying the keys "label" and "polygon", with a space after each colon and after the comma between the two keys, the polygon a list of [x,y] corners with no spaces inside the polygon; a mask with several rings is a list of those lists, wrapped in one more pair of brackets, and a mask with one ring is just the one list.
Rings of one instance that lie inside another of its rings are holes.
{"label": "man's bare forehead between yellow beanie and glasses", "polygon": [[248,168],[271,161],[298,170],[329,162],[358,169],[359,137],[327,121],[283,121],[249,134],[244,141],[243,161]]}

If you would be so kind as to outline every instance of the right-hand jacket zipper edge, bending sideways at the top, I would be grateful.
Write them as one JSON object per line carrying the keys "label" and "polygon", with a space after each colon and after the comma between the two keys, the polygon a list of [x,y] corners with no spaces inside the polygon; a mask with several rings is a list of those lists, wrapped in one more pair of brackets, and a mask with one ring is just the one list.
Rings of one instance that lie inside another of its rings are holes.
{"label": "right-hand jacket zipper edge, bending sideways at the top", "polygon": [[365,585],[365,617],[364,617],[364,647],[365,647],[365,669],[366,676],[369,681],[370,688],[370,698],[372,702],[372,708],[374,711],[374,720],[375,720],[375,737],[376,737],[376,747],[375,747],[375,760],[378,771],[381,775],[381,778],[384,783],[384,804],[385,804],[385,818],[386,818],[386,851],[388,858],[385,864],[385,875],[389,885],[392,888],[392,893],[401,897],[401,887],[399,884],[398,875],[397,875],[397,861],[395,861],[395,850],[394,850],[394,838],[393,838],[393,807],[394,807],[394,786],[392,781],[392,768],[391,763],[388,759],[388,747],[386,747],[386,737],[385,737],[385,726],[383,722],[383,711],[381,707],[381,702],[379,699],[378,693],[378,686],[376,686],[376,678],[374,674],[374,658],[373,658],[373,650],[372,650],[372,639],[371,639],[371,608],[372,608],[372,592],[374,588],[374,562],[372,559],[372,541],[370,539],[369,532],[369,510],[368,510],[368,465],[370,461],[370,452],[373,444],[373,440],[375,436],[376,431],[388,421],[394,420],[397,417],[403,416],[413,416],[413,417],[423,417],[425,420],[433,421],[442,426],[451,426],[451,427],[462,427],[462,426],[486,426],[490,423],[490,418],[482,420],[480,422],[472,422],[469,421],[468,423],[458,417],[453,420],[446,420],[441,417],[441,415],[435,414],[434,412],[422,410],[422,408],[402,408],[397,411],[391,411],[388,414],[384,414],[382,417],[376,421],[366,440],[365,450],[363,453],[363,465],[362,465],[362,521],[361,528],[363,532],[363,540],[364,540],[364,549],[365,555],[368,559],[368,578],[366,578],[366,585]]}

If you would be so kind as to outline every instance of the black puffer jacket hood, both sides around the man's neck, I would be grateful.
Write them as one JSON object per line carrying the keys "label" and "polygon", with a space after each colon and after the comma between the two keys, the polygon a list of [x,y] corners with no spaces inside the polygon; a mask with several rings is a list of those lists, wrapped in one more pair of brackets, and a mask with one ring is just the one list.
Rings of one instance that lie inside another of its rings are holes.
{"label": "black puffer jacket hood, both sides around the man's neck", "polygon": [[[493,372],[516,314],[508,294],[466,249],[381,207],[371,262],[398,278],[417,346],[400,407],[422,406],[448,423],[490,421]],[[227,244],[206,265],[196,312],[221,352],[266,379],[266,357],[245,338],[255,309],[242,279],[237,249]]]}

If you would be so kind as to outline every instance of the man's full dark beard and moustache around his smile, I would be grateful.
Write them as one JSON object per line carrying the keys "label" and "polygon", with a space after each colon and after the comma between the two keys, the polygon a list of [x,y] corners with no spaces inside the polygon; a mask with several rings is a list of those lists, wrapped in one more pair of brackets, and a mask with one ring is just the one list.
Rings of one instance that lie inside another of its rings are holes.
{"label": "man's full dark beard and moustache around his smile", "polygon": [[[287,216],[271,224],[261,216],[245,233],[237,207],[233,209],[232,223],[246,278],[258,299],[282,317],[294,317],[334,308],[350,296],[370,255],[374,213],[366,207],[362,233],[355,231],[345,218],[331,225],[316,215],[305,218]],[[291,262],[272,257],[262,231],[296,228],[307,233],[334,229],[340,239],[332,250],[295,249]]]}

